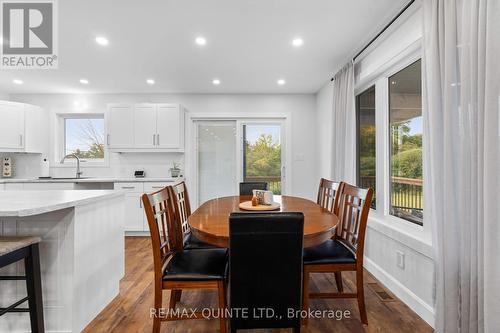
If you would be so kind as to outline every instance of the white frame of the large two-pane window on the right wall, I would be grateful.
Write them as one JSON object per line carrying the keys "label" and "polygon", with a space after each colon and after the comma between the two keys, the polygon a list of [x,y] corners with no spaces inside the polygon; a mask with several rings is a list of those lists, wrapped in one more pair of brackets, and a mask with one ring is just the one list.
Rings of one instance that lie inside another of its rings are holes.
{"label": "white frame of the large two-pane window on the right wall", "polygon": [[[364,76],[357,76],[354,93],[357,96],[371,86],[375,85],[375,126],[376,132],[376,205],[377,209],[371,209],[369,215],[369,226],[375,230],[391,237],[405,240],[405,243],[413,244],[422,251],[428,250],[432,244],[432,225],[429,219],[425,218],[424,225],[420,226],[405,219],[390,214],[390,151],[389,151],[389,77],[402,69],[408,67],[415,61],[422,59],[421,40],[411,44],[407,49],[391,58],[384,64],[373,69]],[[362,60],[362,59],[360,59]],[[356,64],[355,64],[356,66]],[[422,84],[425,87],[425,78],[422,77]],[[426,107],[425,89],[422,89],[422,109]],[[425,112],[422,112],[423,128],[426,126]],[[380,130],[381,128],[381,130]],[[422,137],[423,147],[423,170],[425,173],[426,158],[426,137]],[[357,171],[357,170],[356,170]],[[356,175],[357,177],[357,175]],[[423,186],[426,187],[425,174],[423,177]],[[387,197],[386,197],[387,196]],[[424,192],[425,200],[425,192]]]}

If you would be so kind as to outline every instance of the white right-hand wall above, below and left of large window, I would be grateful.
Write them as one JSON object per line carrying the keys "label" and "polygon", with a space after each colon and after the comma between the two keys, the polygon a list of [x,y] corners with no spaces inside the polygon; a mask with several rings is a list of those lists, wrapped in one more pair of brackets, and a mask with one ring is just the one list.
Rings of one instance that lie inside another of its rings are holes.
{"label": "white right-hand wall above, below and left of large window", "polygon": [[[420,4],[413,5],[384,35],[363,55],[355,65],[356,90],[371,84],[398,59],[414,53],[422,37]],[[413,50],[413,51],[412,51]],[[332,84],[328,82],[316,94],[318,128],[318,173],[329,176],[331,168]],[[328,139],[327,139],[328,138]],[[403,230],[398,224],[385,221],[374,211],[370,213],[365,248],[365,267],[396,296],[410,306],[429,324],[434,323],[432,247],[429,239],[421,237],[415,228]],[[425,221],[424,221],[425,224]],[[428,227],[428,226],[427,226]],[[396,265],[396,252],[405,255],[405,268]]]}

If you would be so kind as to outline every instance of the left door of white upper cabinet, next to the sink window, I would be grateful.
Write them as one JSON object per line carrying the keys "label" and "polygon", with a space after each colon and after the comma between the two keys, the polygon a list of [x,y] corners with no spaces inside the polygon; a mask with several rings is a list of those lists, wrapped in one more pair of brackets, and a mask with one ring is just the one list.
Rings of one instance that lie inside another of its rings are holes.
{"label": "left door of white upper cabinet, next to the sink window", "polygon": [[108,148],[134,145],[134,109],[129,104],[109,104],[105,115]]}

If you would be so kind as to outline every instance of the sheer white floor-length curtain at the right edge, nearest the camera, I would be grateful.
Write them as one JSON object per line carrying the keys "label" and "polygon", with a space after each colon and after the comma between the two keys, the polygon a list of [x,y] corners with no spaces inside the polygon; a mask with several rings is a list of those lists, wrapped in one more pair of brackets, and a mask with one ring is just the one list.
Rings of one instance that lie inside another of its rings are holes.
{"label": "sheer white floor-length curtain at the right edge, nearest the camera", "polygon": [[500,331],[500,0],[424,0],[437,332]]}

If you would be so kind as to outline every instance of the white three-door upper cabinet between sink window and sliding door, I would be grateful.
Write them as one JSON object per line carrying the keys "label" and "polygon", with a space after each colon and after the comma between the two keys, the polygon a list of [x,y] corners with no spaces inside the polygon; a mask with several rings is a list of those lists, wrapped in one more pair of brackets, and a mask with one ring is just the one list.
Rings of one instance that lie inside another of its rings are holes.
{"label": "white three-door upper cabinet between sink window and sliding door", "polygon": [[[184,110],[179,104],[142,103],[120,107],[126,109],[126,117],[115,104],[108,105],[108,148],[123,152],[184,151]],[[122,138],[118,144],[113,141],[113,137],[118,136],[113,131]]]}

